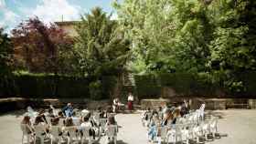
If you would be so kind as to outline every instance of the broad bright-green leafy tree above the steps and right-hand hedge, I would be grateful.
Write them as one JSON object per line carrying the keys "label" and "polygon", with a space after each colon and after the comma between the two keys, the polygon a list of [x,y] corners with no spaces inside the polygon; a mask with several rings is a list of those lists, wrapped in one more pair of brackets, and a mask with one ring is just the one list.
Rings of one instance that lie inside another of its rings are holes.
{"label": "broad bright-green leafy tree above the steps and right-hand hedge", "polygon": [[205,71],[212,26],[208,6],[195,0],[125,0],[114,3],[133,40],[133,69]]}

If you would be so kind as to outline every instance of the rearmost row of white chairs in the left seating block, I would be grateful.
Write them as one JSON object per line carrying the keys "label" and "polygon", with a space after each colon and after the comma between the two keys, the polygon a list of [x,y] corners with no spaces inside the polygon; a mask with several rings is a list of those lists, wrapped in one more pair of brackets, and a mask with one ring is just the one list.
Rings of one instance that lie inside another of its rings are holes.
{"label": "rearmost row of white chairs in the left seating block", "polygon": [[[59,135],[61,128],[59,126],[51,126],[49,131],[46,131],[46,128],[42,125],[38,125],[37,127],[32,130],[27,124],[21,124],[22,129],[22,144],[24,143],[25,139],[27,139],[27,144],[33,140],[33,143],[36,144],[37,138],[40,139],[40,144],[44,144],[45,139],[50,139],[50,143],[53,144],[54,141],[61,143],[64,139],[67,139],[68,144],[71,144],[73,141],[80,141],[81,144],[84,143],[84,140],[88,140],[89,144],[92,143],[92,136],[90,136],[90,129],[85,128],[82,129],[82,135],[78,131],[77,126],[73,127],[66,127],[63,130],[63,134]],[[30,129],[33,133],[27,131]],[[44,133],[44,135],[42,135]],[[69,135],[68,135],[69,133]],[[114,143],[116,144],[116,136],[117,136],[117,126],[110,125],[107,126],[105,129],[106,136],[110,139],[113,139]]]}

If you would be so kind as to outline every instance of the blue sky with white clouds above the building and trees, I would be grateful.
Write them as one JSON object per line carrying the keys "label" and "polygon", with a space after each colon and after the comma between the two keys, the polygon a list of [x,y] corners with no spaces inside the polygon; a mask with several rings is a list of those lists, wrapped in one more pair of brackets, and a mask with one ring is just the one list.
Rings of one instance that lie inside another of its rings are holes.
{"label": "blue sky with white clouds above the building and trees", "polygon": [[79,20],[95,6],[116,18],[112,0],[0,0],[0,27],[9,31],[36,15],[45,23],[61,21],[62,15],[64,21]]}

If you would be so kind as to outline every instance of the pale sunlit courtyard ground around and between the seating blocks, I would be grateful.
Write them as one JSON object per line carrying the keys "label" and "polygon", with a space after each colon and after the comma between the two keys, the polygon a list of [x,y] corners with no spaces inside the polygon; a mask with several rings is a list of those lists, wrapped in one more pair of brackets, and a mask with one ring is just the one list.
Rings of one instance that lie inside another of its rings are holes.
{"label": "pale sunlit courtyard ground around and between the seating blocks", "polygon": [[[210,111],[219,116],[220,139],[205,142],[206,144],[256,144],[256,110],[230,109]],[[22,111],[11,112],[0,116],[0,143],[20,144]],[[140,114],[119,114],[120,126],[118,144],[147,144],[146,129],[140,121]],[[97,143],[106,143],[102,138]]]}

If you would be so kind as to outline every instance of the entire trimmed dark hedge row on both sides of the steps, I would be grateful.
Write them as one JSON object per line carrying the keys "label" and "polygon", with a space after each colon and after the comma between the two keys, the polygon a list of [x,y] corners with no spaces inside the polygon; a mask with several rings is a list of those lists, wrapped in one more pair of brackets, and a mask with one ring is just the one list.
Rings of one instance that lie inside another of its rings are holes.
{"label": "entire trimmed dark hedge row on both sides of the steps", "polygon": [[[256,72],[236,74],[236,78],[242,82],[243,90],[240,92],[234,92],[229,87],[224,87],[222,81],[213,83],[208,75],[195,76],[187,73],[135,75],[135,87],[123,87],[121,95],[126,99],[127,93],[133,91],[133,94],[139,98],[159,98],[162,87],[172,87],[177,96],[256,96],[254,90],[256,88]],[[110,97],[111,90],[116,84],[116,77],[102,77],[101,85],[95,83],[95,86],[90,86],[90,84],[91,79],[84,77],[16,75],[9,80],[9,85],[0,85],[0,96],[104,99]]]}

